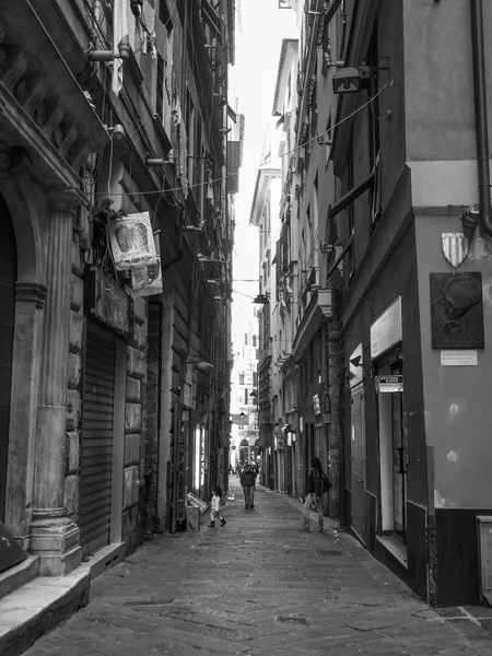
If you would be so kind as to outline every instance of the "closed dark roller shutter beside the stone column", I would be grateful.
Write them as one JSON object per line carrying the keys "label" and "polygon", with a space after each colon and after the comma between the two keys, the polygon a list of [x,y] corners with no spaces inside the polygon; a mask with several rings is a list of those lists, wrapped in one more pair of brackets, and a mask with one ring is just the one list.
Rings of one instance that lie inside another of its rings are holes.
{"label": "closed dark roller shutter beside the stone column", "polygon": [[87,333],[80,480],[80,542],[87,554],[109,542],[115,344]]}

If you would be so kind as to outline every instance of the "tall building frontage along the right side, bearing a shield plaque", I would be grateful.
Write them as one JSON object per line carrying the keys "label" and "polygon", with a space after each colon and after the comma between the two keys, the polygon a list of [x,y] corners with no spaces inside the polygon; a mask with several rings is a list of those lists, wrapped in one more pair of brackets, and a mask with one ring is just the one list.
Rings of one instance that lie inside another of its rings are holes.
{"label": "tall building frontage along the right side, bearing a shield plaque", "polygon": [[490,601],[491,8],[282,5],[300,28],[284,271],[306,456],[328,456],[329,512],[422,597]]}

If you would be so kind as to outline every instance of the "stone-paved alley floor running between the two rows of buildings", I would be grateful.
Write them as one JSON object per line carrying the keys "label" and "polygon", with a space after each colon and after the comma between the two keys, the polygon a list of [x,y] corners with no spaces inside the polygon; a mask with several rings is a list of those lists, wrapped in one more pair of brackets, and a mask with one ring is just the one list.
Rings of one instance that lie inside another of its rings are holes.
{"label": "stone-paved alley floor running between the two rows of buildings", "polygon": [[231,490],[226,526],[207,514],[145,543],[25,655],[492,655],[492,609],[443,616],[351,536],[301,532],[298,501],[259,488],[245,511],[235,477]]}

